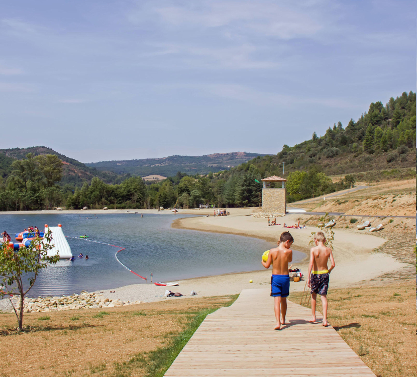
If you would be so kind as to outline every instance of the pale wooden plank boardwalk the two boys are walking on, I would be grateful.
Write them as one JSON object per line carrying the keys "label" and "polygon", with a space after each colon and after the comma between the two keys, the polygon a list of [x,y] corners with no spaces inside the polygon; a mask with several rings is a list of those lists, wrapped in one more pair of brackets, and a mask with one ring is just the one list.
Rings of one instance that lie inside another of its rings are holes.
{"label": "pale wooden plank boardwalk the two boys are walking on", "polygon": [[375,377],[333,327],[308,323],[308,308],[288,302],[287,325],[273,330],[269,293],[244,290],[207,316],[165,376]]}

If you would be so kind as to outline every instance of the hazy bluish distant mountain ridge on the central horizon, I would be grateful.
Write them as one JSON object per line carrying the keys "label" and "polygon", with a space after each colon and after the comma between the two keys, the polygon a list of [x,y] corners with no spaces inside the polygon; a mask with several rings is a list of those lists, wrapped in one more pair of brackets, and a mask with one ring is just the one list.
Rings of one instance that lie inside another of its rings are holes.
{"label": "hazy bluish distant mountain ridge on the central horizon", "polygon": [[178,171],[187,174],[208,174],[228,170],[238,166],[257,156],[263,157],[268,154],[230,152],[212,153],[203,156],[168,156],[162,158],[144,158],[135,160],[115,160],[86,163],[100,171],[112,171],[116,174],[131,175],[163,175],[173,176]]}

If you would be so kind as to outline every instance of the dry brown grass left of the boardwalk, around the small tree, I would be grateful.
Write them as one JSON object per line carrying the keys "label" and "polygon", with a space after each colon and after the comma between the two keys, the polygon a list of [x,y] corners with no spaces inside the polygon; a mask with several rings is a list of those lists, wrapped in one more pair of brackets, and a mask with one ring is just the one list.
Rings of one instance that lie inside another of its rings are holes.
{"label": "dry brown grass left of the boardwalk, around the small tree", "polygon": [[[0,376],[160,375],[190,329],[235,296],[170,299],[123,308],[0,315]],[[193,331],[193,330],[192,330]],[[163,355],[163,357],[158,357]],[[161,362],[162,361],[162,362]]]}

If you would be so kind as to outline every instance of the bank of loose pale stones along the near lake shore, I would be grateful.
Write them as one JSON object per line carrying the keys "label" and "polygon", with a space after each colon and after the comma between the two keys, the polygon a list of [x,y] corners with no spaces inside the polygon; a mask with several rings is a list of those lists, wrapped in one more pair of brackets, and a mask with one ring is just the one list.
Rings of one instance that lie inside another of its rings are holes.
{"label": "bank of loose pale stones along the near lake shore", "polygon": [[[101,293],[101,292],[100,292]],[[121,306],[140,304],[140,301],[121,301],[103,297],[100,293],[81,292],[79,295],[61,297],[38,297],[25,299],[24,313],[52,312],[62,310],[79,310],[89,308],[116,308]],[[18,305],[15,305],[19,309]]]}

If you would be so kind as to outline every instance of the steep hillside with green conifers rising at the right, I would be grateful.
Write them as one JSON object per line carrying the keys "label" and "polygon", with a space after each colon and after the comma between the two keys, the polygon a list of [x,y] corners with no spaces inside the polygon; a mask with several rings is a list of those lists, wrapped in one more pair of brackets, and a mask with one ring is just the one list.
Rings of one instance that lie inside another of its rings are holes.
{"label": "steep hillside with green conifers rising at the right", "polygon": [[383,105],[372,103],[368,112],[346,128],[341,122],[329,127],[324,136],[293,147],[284,145],[274,156],[256,157],[230,171],[226,178],[254,165],[260,175],[283,175],[315,166],[328,175],[369,170],[415,167],[415,93],[403,92]]}

